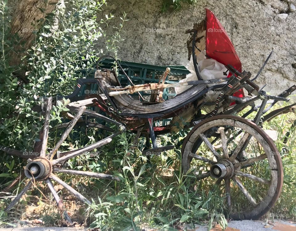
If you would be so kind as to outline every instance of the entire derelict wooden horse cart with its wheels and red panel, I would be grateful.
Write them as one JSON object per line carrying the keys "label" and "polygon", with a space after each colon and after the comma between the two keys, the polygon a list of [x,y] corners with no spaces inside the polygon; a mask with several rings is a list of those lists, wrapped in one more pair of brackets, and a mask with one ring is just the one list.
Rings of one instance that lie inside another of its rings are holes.
{"label": "entire derelict wooden horse cart with its wheels and red panel", "polygon": [[[71,95],[46,98],[42,107],[33,108],[34,111],[44,115],[40,141],[35,143],[34,151],[24,154],[26,150],[0,146],[0,150],[7,154],[28,160],[23,174],[28,178],[27,184],[5,210],[12,209],[35,181],[43,181],[50,189],[59,209],[64,211],[65,220],[71,223],[52,181],[62,185],[84,203],[91,202],[56,176],[56,173],[108,180],[119,180],[119,178],[105,173],[72,170],[63,167],[62,163],[94,149],[98,150],[126,131],[135,133],[136,138],[146,137],[143,155],[159,155],[175,147],[174,145],[160,147],[157,144],[158,135],[178,133],[179,130],[191,128],[181,149],[183,174],[189,177],[191,182],[188,187],[193,190],[202,190],[203,187],[218,190],[217,194],[221,196],[222,203],[228,211],[227,215],[232,219],[258,219],[267,213],[275,205],[281,193],[283,167],[279,151],[261,125],[277,115],[292,111],[295,104],[267,113],[275,103],[287,102],[286,97],[295,90],[295,86],[278,96],[267,95],[253,83],[257,77],[251,80],[250,72],[241,71],[240,61],[225,30],[218,36],[222,36],[219,38],[220,43],[228,45],[220,46],[218,41],[217,46],[213,47],[215,42],[212,40],[217,35],[210,34],[210,29],[215,31],[217,28],[224,30],[212,12],[207,10],[207,18],[201,24],[195,25],[193,30],[187,31],[192,34],[191,54],[197,80],[165,83],[171,71],[167,68],[158,83],[134,85],[120,62],[107,55],[99,59],[94,78],[79,79]],[[222,50],[219,50],[219,47]],[[228,78],[208,80],[201,78],[196,55],[204,50],[207,51],[207,58],[216,59],[225,65],[227,69],[225,77]],[[101,60],[105,58],[114,59],[119,71],[128,79],[129,85],[121,86],[116,71],[100,68]],[[89,85],[97,85],[99,91],[94,94],[79,95],[81,89]],[[172,99],[163,99],[164,89],[180,86],[190,87]],[[150,99],[147,96],[144,98],[140,93],[147,91],[151,92]],[[213,102],[206,100],[206,94],[210,91],[218,92]],[[245,96],[245,93],[248,95]],[[50,128],[52,105],[63,100],[64,103],[67,102],[66,107],[69,109],[63,116],[70,122]],[[259,102],[259,105],[256,105],[256,102]],[[202,109],[205,106],[211,106],[212,111],[203,113]],[[244,114],[236,116],[240,112]],[[256,114],[255,117],[247,119],[252,112]],[[16,112],[14,115],[17,114]],[[164,119],[170,119],[171,122],[156,125],[155,122]],[[102,135],[94,143],[82,148],[65,150],[62,144],[70,132],[82,127],[97,128]],[[51,138],[53,133],[54,139]],[[10,187],[15,183],[16,181]],[[257,188],[256,195],[250,192],[254,187]]]}

